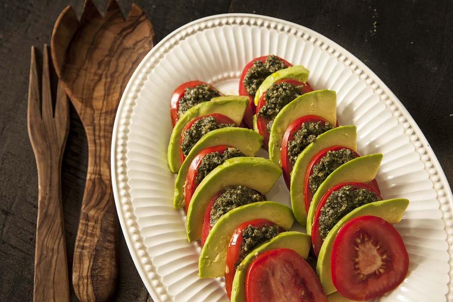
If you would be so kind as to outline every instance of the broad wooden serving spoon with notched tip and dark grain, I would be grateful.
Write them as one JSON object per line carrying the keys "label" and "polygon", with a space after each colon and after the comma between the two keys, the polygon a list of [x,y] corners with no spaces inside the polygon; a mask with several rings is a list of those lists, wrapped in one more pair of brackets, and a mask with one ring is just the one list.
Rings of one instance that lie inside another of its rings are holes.
{"label": "broad wooden serving spoon with notched tip and dark grain", "polygon": [[81,301],[106,301],[115,290],[118,219],[110,173],[113,122],[132,72],[153,46],[153,26],[143,12],[132,4],[124,20],[115,0],[109,1],[104,17],[86,0],[80,21],[68,6],[53,28],[53,64],[88,140],[87,181],[72,266],[72,284]]}

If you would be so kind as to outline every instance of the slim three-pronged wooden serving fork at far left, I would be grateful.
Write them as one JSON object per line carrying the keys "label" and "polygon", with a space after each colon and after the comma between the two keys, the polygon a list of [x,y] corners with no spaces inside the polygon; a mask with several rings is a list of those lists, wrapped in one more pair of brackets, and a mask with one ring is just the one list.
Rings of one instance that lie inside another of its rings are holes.
{"label": "slim three-pronged wooden serving fork at far left", "polygon": [[[36,50],[31,49],[28,90],[28,134],[38,168],[34,301],[69,301],[66,241],[61,204],[61,159],[69,130],[66,94],[57,87],[52,110],[49,55],[44,45],[40,97]],[[40,105],[40,99],[42,105]]]}

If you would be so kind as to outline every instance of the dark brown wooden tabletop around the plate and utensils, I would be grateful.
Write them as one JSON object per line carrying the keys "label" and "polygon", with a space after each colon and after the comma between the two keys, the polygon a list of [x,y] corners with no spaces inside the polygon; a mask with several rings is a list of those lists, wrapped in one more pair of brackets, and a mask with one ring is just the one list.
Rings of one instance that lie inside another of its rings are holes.
{"label": "dark brown wooden tabletop around the plate and utensils", "polygon": [[[68,4],[81,13],[82,0],[0,0],[2,301],[31,301],[33,296],[38,179],[26,122],[30,46],[42,47],[50,41],[55,19]],[[95,0],[95,4],[104,11],[107,0]],[[124,13],[130,4],[130,0],[119,1]],[[153,23],[157,41],[189,21],[228,12],[282,18],[327,36],[368,65],[397,95],[453,183],[453,1],[165,0],[137,4]],[[62,172],[69,269],[87,165],[87,142],[73,108],[70,127]],[[115,300],[146,301],[146,289],[124,239],[120,252]]]}

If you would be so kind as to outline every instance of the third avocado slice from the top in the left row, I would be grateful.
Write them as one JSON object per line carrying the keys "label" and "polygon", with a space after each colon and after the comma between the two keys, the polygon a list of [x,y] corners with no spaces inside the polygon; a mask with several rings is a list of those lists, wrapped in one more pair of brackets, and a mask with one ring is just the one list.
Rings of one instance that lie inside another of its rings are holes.
{"label": "third avocado slice from the top in the left row", "polygon": [[263,158],[233,158],[217,166],[200,182],[190,201],[187,211],[189,242],[201,238],[206,207],[212,196],[220,190],[228,186],[243,185],[266,194],[280,175],[280,167]]}

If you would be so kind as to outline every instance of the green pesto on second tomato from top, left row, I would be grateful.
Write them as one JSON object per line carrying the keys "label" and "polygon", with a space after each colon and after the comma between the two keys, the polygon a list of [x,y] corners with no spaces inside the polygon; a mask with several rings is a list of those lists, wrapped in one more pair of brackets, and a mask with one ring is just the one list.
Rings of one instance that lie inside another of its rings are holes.
{"label": "green pesto on second tomato from top, left row", "polygon": [[183,140],[181,142],[181,150],[185,156],[187,156],[192,149],[193,145],[200,140],[203,135],[206,135],[209,131],[225,128],[225,127],[236,127],[235,124],[219,124],[212,116],[206,116],[200,118],[193,125],[184,131]]}

